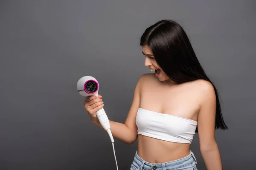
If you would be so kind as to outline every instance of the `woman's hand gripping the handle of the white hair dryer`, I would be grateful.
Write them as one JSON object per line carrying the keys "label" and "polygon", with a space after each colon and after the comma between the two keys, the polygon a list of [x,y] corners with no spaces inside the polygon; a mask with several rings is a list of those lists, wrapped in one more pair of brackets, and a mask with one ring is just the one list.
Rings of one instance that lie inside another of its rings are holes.
{"label": "woman's hand gripping the handle of the white hair dryer", "polygon": [[103,108],[102,96],[98,94],[98,97],[88,96],[84,100],[84,108],[86,109],[87,113],[90,116],[90,119],[93,123],[99,122],[96,112]]}

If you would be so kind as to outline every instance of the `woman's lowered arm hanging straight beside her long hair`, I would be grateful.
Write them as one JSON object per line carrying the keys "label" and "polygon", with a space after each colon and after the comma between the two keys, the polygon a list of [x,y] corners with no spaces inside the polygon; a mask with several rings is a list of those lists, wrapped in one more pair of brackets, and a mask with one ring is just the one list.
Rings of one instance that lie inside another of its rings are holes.
{"label": "woman's lowered arm hanging straight beside her long hair", "polygon": [[198,136],[201,155],[207,170],[222,170],[221,156],[215,141],[216,96],[211,83],[202,83],[202,102],[198,113]]}

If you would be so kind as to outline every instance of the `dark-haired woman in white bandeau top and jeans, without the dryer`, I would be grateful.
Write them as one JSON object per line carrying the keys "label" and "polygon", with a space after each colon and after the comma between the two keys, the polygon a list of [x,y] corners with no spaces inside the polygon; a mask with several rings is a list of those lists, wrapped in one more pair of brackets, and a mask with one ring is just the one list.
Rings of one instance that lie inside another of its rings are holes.
{"label": "dark-haired woman in white bandeau top and jeans, without the dryer", "polygon": [[[222,170],[215,129],[227,126],[218,92],[185,31],[175,21],[161,20],[145,30],[140,45],[145,66],[155,73],[138,80],[125,123],[110,121],[114,138],[126,144],[138,138],[131,170],[196,170],[197,161],[189,150],[195,133],[207,170]],[[95,113],[102,107],[101,95],[84,101],[91,121],[99,127]]]}

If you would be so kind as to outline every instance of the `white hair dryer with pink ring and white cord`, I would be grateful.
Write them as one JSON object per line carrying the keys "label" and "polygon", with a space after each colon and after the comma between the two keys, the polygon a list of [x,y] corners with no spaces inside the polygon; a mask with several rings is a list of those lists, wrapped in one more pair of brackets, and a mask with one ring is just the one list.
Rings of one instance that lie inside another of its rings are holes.
{"label": "white hair dryer with pink ring and white cord", "polygon": [[[94,77],[84,76],[78,80],[76,88],[81,96],[84,96],[84,97],[92,96],[92,95],[98,96],[99,83]],[[113,143],[114,139],[113,139],[113,136],[112,136],[112,133],[110,130],[108,116],[105,113],[103,108],[101,108],[99,111],[96,112],[96,116],[99,119],[99,122],[102,125],[102,127],[107,131],[107,133],[111,139],[111,142],[113,145],[114,156],[115,156],[115,160],[116,160],[115,148],[114,148],[114,143]],[[116,168],[118,170],[117,161],[116,161]]]}

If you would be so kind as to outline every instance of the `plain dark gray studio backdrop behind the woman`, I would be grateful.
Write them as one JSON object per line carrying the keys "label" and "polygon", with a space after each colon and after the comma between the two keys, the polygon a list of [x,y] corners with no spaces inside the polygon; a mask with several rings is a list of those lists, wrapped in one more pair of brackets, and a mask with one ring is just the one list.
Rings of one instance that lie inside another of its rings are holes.
{"label": "plain dark gray studio backdrop behind the woman", "polygon": [[[216,130],[225,170],[255,167],[255,1],[0,1],[0,169],[115,170],[106,133],[90,122],[79,78],[100,84],[109,119],[125,122],[144,66],[140,36],[179,22],[221,94],[229,130]],[[152,98],[154,99],[154,98]],[[115,142],[128,170],[137,142]],[[191,150],[205,169],[198,135]]]}

